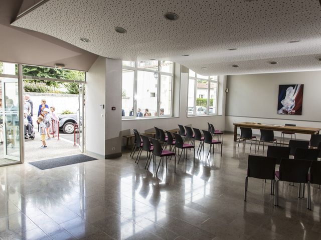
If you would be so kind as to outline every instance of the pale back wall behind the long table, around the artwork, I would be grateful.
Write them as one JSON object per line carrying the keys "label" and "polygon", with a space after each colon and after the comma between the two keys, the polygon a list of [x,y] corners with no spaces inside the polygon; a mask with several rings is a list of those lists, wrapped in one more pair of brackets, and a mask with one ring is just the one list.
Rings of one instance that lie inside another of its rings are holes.
{"label": "pale back wall behind the long table, around the artwork", "polygon": [[[279,84],[304,84],[302,115],[277,114]],[[225,129],[233,131],[235,122],[254,121],[271,124],[292,123],[321,127],[321,71],[231,75],[227,77]],[[259,134],[259,130],[253,130]],[[280,132],[274,133],[276,136]],[[299,139],[309,135],[296,134]]]}

